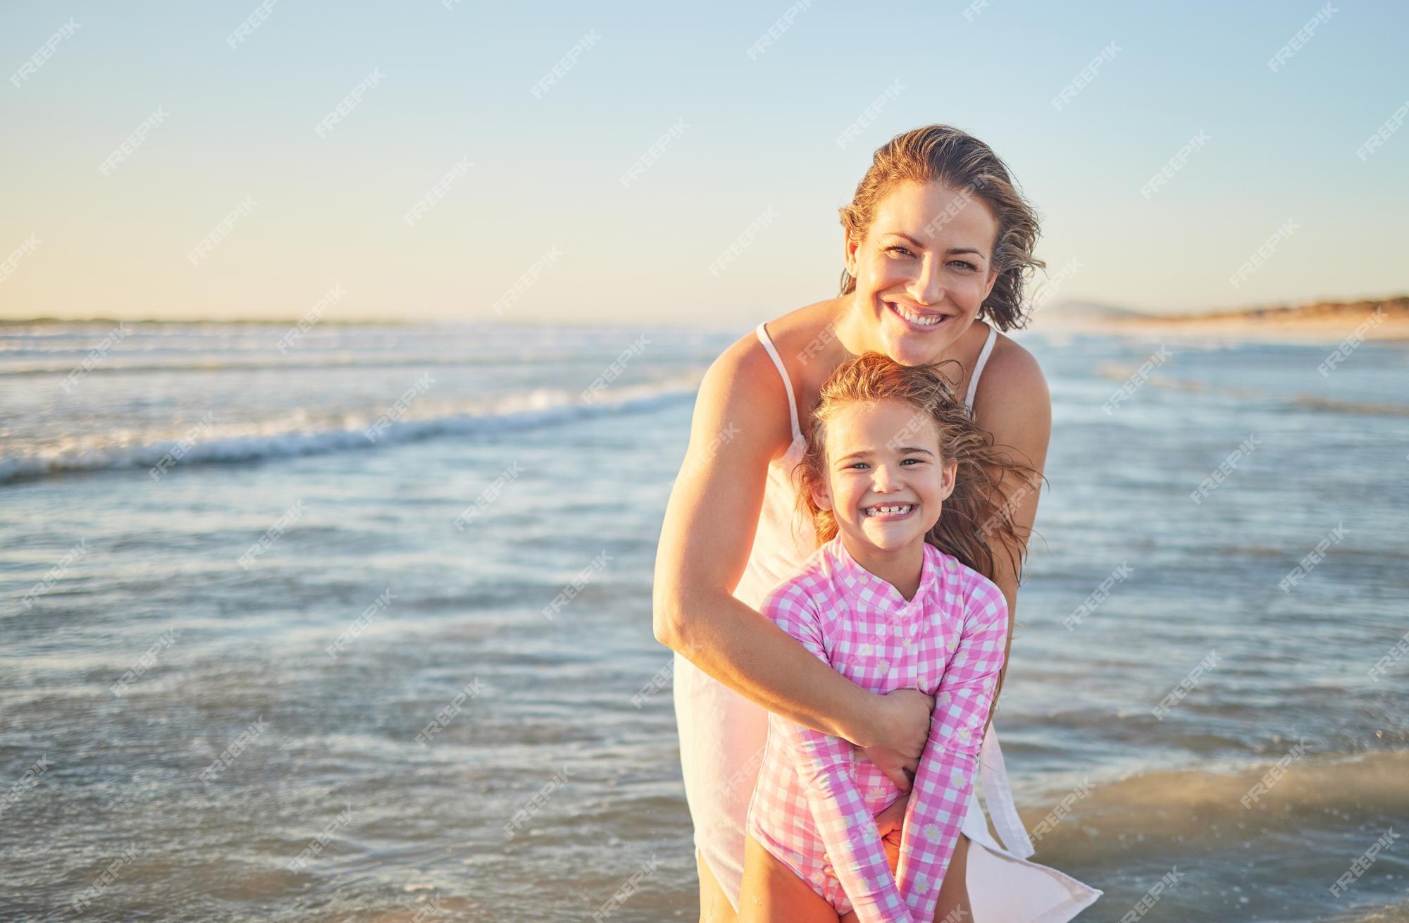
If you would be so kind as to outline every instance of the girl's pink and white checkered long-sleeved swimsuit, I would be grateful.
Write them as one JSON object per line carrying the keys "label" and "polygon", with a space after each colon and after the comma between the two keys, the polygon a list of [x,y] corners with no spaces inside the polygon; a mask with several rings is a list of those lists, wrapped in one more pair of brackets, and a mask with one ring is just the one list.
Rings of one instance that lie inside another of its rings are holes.
{"label": "girl's pink and white checkered long-sleeved swimsuit", "polygon": [[[871,692],[936,696],[930,737],[890,874],[875,814],[902,792],[850,741],[778,714],[748,805],[747,830],[813,891],[861,923],[930,923],[968,810],[1007,638],[998,586],[926,544],[909,602],[861,566],[838,534],[779,583],[761,612]],[[823,853],[837,879],[823,872]]]}

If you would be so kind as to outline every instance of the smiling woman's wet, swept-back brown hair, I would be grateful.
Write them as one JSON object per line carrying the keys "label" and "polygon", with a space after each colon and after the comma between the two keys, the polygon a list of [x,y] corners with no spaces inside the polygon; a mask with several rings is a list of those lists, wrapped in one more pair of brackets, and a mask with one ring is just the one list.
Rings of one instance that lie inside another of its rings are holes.
{"label": "smiling woman's wet, swept-back brown hair", "polygon": [[[998,279],[978,316],[999,330],[1024,327],[1029,311],[1023,289],[1033,271],[1047,264],[1033,256],[1041,234],[1037,211],[1023,197],[1007,165],[986,144],[950,125],[924,125],[898,134],[876,148],[851,202],[838,210],[841,227],[851,240],[857,244],[865,240],[876,206],[905,182],[943,183],[992,209],[998,220],[992,256]],[[936,216],[936,221],[943,220]],[[841,295],[855,289],[857,280],[843,269]]]}

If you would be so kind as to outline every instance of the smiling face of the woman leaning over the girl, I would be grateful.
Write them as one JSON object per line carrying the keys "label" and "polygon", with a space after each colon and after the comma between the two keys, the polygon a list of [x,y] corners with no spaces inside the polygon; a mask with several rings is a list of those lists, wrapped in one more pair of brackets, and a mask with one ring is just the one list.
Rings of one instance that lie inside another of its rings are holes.
{"label": "smiling face of the woman leaning over the girl", "polygon": [[882,351],[905,365],[940,358],[993,290],[996,242],[998,220],[978,194],[898,183],[865,240],[845,242],[854,309],[876,326]]}

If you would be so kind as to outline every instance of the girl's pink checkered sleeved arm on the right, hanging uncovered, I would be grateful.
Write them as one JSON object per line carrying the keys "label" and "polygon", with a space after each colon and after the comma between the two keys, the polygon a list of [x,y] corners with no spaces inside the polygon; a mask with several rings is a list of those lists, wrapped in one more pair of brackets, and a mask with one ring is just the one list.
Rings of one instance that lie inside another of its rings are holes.
{"label": "girl's pink checkered sleeved arm on the right, hanging uncovered", "polygon": [[896,879],[916,920],[934,919],[940,884],[968,813],[1006,636],[1003,593],[981,579],[968,596],[958,645],[936,692],[930,741],[905,816]]}

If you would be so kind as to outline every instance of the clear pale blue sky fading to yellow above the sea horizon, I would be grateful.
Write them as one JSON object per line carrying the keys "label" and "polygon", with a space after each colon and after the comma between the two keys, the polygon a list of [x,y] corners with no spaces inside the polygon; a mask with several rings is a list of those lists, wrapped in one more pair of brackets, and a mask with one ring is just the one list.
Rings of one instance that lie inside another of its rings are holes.
{"label": "clear pale blue sky fading to yellow above the sea horizon", "polygon": [[[836,293],[836,209],[871,151],[944,121],[988,141],[1044,216],[1061,297],[1198,310],[1409,289],[1403,3],[816,0],[764,54],[778,3],[485,4],[279,0],[0,7],[0,317],[752,323]],[[42,66],[11,80],[69,20]],[[531,89],[585,35],[592,47]],[[1119,52],[1067,106],[1061,89]],[[373,69],[347,117],[316,125]],[[854,142],[867,106],[902,85]],[[154,111],[141,145],[99,165]],[[620,176],[686,123],[637,182]],[[1209,141],[1146,199],[1196,132]],[[468,158],[414,227],[403,216]],[[187,254],[255,202],[199,265]],[[776,220],[719,276],[759,214]],[[1234,289],[1288,220],[1299,230]]]}

